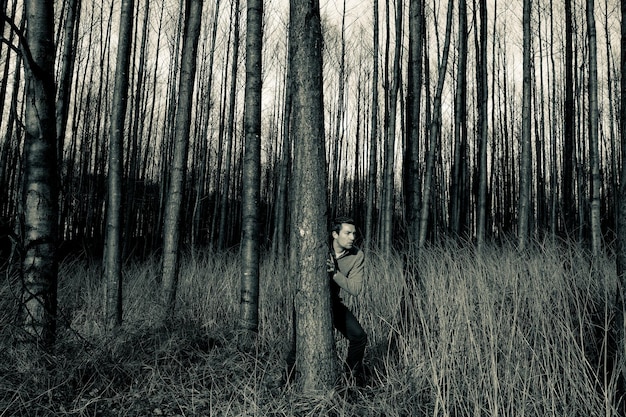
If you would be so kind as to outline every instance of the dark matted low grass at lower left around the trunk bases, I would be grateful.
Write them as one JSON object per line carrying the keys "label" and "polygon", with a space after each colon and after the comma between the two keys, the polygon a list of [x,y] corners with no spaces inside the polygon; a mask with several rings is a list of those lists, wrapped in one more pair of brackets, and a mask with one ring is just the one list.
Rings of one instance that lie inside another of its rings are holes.
{"label": "dark matted low grass at lower left around the trunk bases", "polygon": [[108,345],[77,341],[61,346],[44,357],[44,373],[33,369],[23,353],[5,351],[0,415],[421,415],[412,410],[398,414],[385,405],[408,393],[384,383],[379,369],[373,369],[365,387],[342,378],[327,396],[303,397],[297,386],[283,383],[278,350],[246,354],[237,350],[235,340],[209,336],[191,323],[170,330],[136,329],[119,333]]}

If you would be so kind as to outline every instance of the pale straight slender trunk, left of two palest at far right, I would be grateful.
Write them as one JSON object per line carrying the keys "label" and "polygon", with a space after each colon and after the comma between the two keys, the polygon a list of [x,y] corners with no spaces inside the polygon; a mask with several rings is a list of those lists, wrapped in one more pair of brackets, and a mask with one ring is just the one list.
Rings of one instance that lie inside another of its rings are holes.
{"label": "pale straight slender trunk, left of two palest at far right", "polygon": [[531,135],[531,57],[530,57],[530,14],[532,1],[524,0],[523,11],[523,86],[522,86],[522,130],[521,130],[521,155],[520,155],[520,177],[519,177],[519,204],[517,219],[517,239],[518,247],[524,250],[528,245],[528,235],[530,231],[529,221],[531,216],[531,176],[532,176],[532,155],[530,145]]}

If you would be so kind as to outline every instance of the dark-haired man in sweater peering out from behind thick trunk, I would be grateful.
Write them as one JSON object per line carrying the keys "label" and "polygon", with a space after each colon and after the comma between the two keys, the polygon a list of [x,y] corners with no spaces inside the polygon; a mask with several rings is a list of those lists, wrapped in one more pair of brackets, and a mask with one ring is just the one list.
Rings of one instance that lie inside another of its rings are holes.
{"label": "dark-haired man in sweater peering out from behind thick trunk", "polygon": [[[354,314],[343,304],[341,290],[352,296],[358,296],[363,288],[364,260],[363,251],[354,246],[356,226],[349,217],[338,217],[331,225],[329,257],[327,259],[328,278],[333,326],[348,339],[346,371],[357,385],[365,385],[363,357],[367,345],[367,334]],[[294,310],[295,314],[295,310]],[[295,317],[294,317],[295,318]],[[296,359],[295,327],[292,348],[287,356],[288,379],[293,376]]]}

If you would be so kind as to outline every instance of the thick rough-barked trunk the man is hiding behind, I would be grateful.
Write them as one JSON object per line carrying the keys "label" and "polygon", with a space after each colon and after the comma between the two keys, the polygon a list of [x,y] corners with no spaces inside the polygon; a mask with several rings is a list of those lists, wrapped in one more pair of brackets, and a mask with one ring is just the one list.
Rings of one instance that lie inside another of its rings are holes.
{"label": "thick rough-barked trunk the man is hiding behind", "polygon": [[296,355],[305,392],[336,381],[337,364],[326,277],[327,177],[324,151],[322,32],[317,0],[291,0],[289,56],[293,80],[294,139],[291,223],[296,280]]}

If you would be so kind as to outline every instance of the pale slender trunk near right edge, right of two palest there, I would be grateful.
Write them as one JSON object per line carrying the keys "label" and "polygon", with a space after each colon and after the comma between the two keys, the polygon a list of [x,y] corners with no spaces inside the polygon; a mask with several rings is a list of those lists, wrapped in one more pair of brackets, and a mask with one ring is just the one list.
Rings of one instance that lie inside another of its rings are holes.
{"label": "pale slender trunk near right edge, right of two palest there", "polygon": [[598,150],[598,46],[594,0],[587,0],[587,39],[589,42],[589,164],[591,165],[591,250],[599,254],[602,245],[600,230],[600,153]]}

